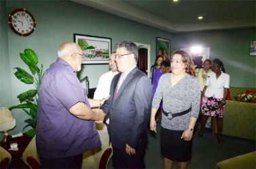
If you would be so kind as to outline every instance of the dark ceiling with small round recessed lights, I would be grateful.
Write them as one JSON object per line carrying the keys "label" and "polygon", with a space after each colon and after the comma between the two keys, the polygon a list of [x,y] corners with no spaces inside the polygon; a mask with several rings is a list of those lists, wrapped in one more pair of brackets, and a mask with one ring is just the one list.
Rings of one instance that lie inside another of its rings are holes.
{"label": "dark ceiling with small round recessed lights", "polygon": [[[169,32],[256,26],[256,0],[71,0]],[[198,16],[203,16],[198,20]]]}

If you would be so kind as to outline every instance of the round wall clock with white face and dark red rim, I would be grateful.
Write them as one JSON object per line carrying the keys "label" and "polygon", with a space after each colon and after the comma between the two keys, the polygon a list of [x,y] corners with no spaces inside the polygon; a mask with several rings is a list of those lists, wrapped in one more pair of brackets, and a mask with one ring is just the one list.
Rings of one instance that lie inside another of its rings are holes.
{"label": "round wall clock with white face and dark red rim", "polygon": [[29,36],[35,30],[35,18],[26,9],[16,9],[9,16],[12,30],[22,37]]}

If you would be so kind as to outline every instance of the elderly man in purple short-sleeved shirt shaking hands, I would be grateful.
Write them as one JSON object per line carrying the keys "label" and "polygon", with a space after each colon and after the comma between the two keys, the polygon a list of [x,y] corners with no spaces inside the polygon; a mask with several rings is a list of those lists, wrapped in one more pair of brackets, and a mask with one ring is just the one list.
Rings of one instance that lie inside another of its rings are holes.
{"label": "elderly man in purple short-sleeved shirt shaking hands", "polygon": [[100,147],[95,122],[105,114],[92,110],[77,72],[84,53],[76,43],[62,43],[58,59],[45,72],[37,108],[37,152],[41,168],[81,168],[83,153]]}

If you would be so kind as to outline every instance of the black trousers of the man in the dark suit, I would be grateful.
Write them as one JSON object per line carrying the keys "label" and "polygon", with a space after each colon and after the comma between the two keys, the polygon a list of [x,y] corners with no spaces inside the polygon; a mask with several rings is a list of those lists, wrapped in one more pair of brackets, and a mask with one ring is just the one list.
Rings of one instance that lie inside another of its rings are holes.
{"label": "black trousers of the man in the dark suit", "polygon": [[135,155],[128,155],[126,150],[115,149],[113,147],[113,166],[114,168],[145,168],[145,151],[147,141],[141,141],[136,148]]}

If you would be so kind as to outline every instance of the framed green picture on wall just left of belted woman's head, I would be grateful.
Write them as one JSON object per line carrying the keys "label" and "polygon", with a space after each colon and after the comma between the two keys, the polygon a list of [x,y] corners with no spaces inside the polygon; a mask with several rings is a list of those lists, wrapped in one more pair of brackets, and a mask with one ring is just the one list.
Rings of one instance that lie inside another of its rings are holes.
{"label": "framed green picture on wall just left of belted woman's head", "polygon": [[156,56],[163,55],[164,60],[170,60],[170,39],[156,37]]}

